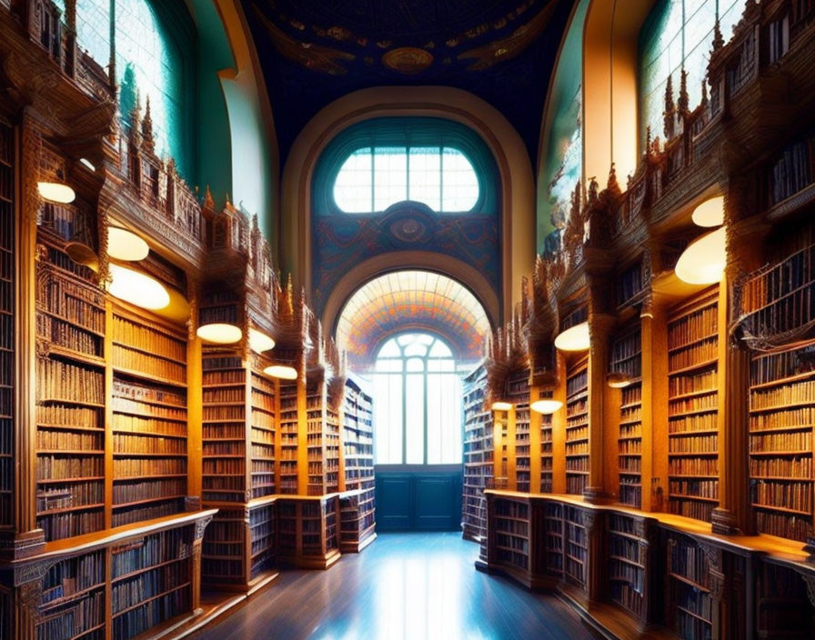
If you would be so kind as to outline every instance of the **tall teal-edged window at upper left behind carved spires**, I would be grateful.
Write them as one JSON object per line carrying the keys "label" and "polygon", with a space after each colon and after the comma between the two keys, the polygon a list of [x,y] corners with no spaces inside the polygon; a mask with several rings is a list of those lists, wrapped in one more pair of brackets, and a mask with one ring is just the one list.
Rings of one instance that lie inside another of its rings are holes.
{"label": "tall teal-edged window at upper left behind carved spires", "polygon": [[149,99],[156,154],[175,158],[179,173],[193,180],[182,52],[147,0],[77,0],[76,42],[98,64],[110,62],[112,15],[122,122],[131,125],[136,101],[144,115]]}

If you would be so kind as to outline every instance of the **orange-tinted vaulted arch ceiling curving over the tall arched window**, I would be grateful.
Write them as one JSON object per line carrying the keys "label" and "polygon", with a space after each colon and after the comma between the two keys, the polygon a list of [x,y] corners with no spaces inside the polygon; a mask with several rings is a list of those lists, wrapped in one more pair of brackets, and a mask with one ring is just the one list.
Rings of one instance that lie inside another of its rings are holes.
{"label": "orange-tinted vaulted arch ceiling curving over the tall arched window", "polygon": [[337,320],[337,345],[352,370],[365,370],[387,337],[404,330],[439,335],[458,359],[478,360],[490,325],[476,296],[455,280],[398,271],[368,281],[348,299]]}

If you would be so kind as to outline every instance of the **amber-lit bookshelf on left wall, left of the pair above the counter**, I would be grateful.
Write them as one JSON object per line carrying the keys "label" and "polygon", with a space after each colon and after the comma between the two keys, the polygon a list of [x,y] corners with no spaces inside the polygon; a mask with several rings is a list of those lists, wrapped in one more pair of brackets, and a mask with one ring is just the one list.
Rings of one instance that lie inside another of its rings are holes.
{"label": "amber-lit bookshelf on left wall, left of the pair above the counter", "polygon": [[45,230],[38,239],[47,253],[36,265],[36,517],[52,541],[106,526],[106,303],[60,266],[64,239]]}

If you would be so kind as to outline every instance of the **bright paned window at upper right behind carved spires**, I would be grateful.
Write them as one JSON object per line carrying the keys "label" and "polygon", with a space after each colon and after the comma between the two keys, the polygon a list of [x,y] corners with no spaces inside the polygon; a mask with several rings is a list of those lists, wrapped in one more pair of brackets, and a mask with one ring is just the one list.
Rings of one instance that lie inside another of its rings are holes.
{"label": "bright paned window at upper right behind carved spires", "polygon": [[666,85],[670,77],[676,101],[683,65],[689,108],[699,105],[716,17],[727,40],[743,7],[743,0],[659,0],[651,9],[639,36],[640,142],[648,127],[652,137],[664,138]]}

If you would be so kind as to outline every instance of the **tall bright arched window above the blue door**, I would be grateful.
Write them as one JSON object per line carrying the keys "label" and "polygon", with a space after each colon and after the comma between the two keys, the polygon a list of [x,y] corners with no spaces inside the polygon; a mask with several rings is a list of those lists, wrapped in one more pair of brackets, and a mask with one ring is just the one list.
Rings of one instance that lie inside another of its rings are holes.
{"label": "tall bright arched window above the blue door", "polygon": [[391,337],[372,377],[377,465],[461,462],[461,378],[444,341],[427,333]]}

